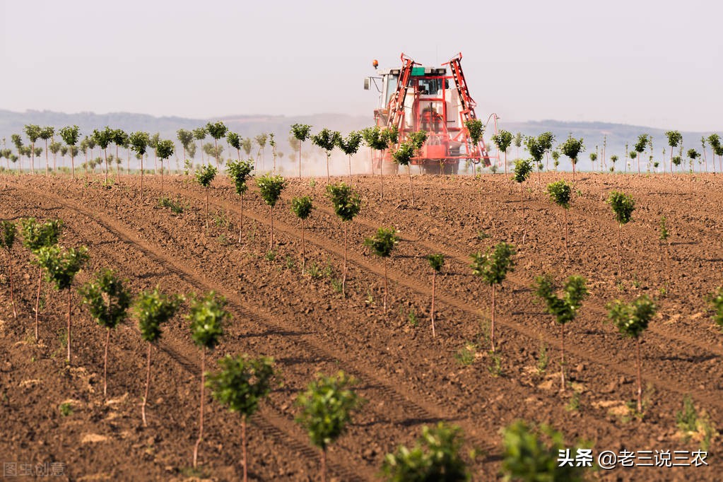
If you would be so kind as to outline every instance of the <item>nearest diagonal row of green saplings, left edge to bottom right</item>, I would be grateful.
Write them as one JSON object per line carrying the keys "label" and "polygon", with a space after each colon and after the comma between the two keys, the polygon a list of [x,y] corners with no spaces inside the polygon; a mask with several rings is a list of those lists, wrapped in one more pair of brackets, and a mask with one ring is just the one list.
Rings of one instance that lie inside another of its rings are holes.
{"label": "nearest diagonal row of green saplings, left edge to bottom right", "polygon": [[[33,254],[33,264],[37,265],[46,282],[54,285],[58,291],[67,293],[67,363],[70,363],[71,350],[71,312],[72,284],[77,273],[89,259],[87,249],[66,249],[59,245],[61,220],[48,220],[41,223],[34,218],[20,220],[22,244]],[[18,225],[11,221],[1,221],[0,241],[9,255],[9,278],[11,302],[14,317],[17,307],[14,302],[12,283],[12,250],[17,238]],[[502,251],[491,259],[500,260]],[[511,264],[510,264],[511,266]],[[40,289],[38,289],[40,292]],[[145,390],[142,396],[141,418],[147,426],[146,404],[150,391],[150,367],[153,347],[160,343],[162,327],[178,314],[188,301],[189,330],[194,343],[202,350],[200,384],[200,423],[199,435],[193,450],[193,464],[197,466],[197,456],[203,439],[203,420],[205,388],[212,390],[213,397],[228,406],[241,418],[242,468],[244,481],[247,480],[247,421],[259,408],[260,403],[281,380],[281,374],[275,369],[273,358],[251,358],[248,355],[226,356],[218,360],[218,371],[205,371],[206,356],[221,341],[224,325],[231,314],[226,311],[226,301],[213,291],[203,296],[191,295],[188,299],[181,295],[162,293],[158,288],[142,291],[133,298],[127,288],[127,280],[121,280],[111,270],[95,273],[90,281],[82,285],[78,292],[82,304],[93,319],[106,329],[105,352],[103,356],[103,397],[108,393],[108,345],[111,332],[119,324],[127,322],[129,311],[137,320],[138,330],[147,342],[147,369]],[[37,312],[37,307],[36,307]],[[36,317],[35,336],[38,336]],[[317,375],[307,390],[301,393],[296,404],[299,416],[296,420],[304,427],[309,439],[321,449],[321,478],[325,480],[326,453],[328,446],[335,442],[352,421],[354,413],[364,405],[364,400],[356,395],[356,380],[342,371],[333,376]],[[542,427],[542,433],[552,440],[547,443],[534,429],[522,421],[516,421],[502,431],[505,442],[505,459],[502,470],[515,478],[523,478],[534,473],[534,468],[548,467],[556,475],[565,475],[565,480],[579,480],[580,475],[573,468],[556,468],[555,460],[560,449],[565,448],[559,433],[549,427]],[[385,456],[381,472],[388,481],[467,481],[471,473],[466,457],[461,455],[463,437],[461,429],[448,423],[422,429],[422,436],[414,447],[398,447],[397,451]],[[534,460],[528,453],[536,454]],[[532,470],[532,471],[531,471]],[[539,470],[539,469],[538,469]],[[539,474],[539,471],[537,472]]]}

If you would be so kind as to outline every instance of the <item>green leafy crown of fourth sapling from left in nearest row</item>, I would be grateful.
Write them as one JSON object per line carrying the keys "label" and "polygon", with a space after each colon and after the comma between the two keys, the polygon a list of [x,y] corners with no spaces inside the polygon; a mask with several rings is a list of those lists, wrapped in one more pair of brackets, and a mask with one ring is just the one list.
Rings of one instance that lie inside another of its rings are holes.
{"label": "green leafy crown of fourth sapling from left in nearest row", "polygon": [[82,285],[79,293],[90,316],[101,326],[115,328],[126,319],[131,295],[111,270],[99,272],[95,280]]}

